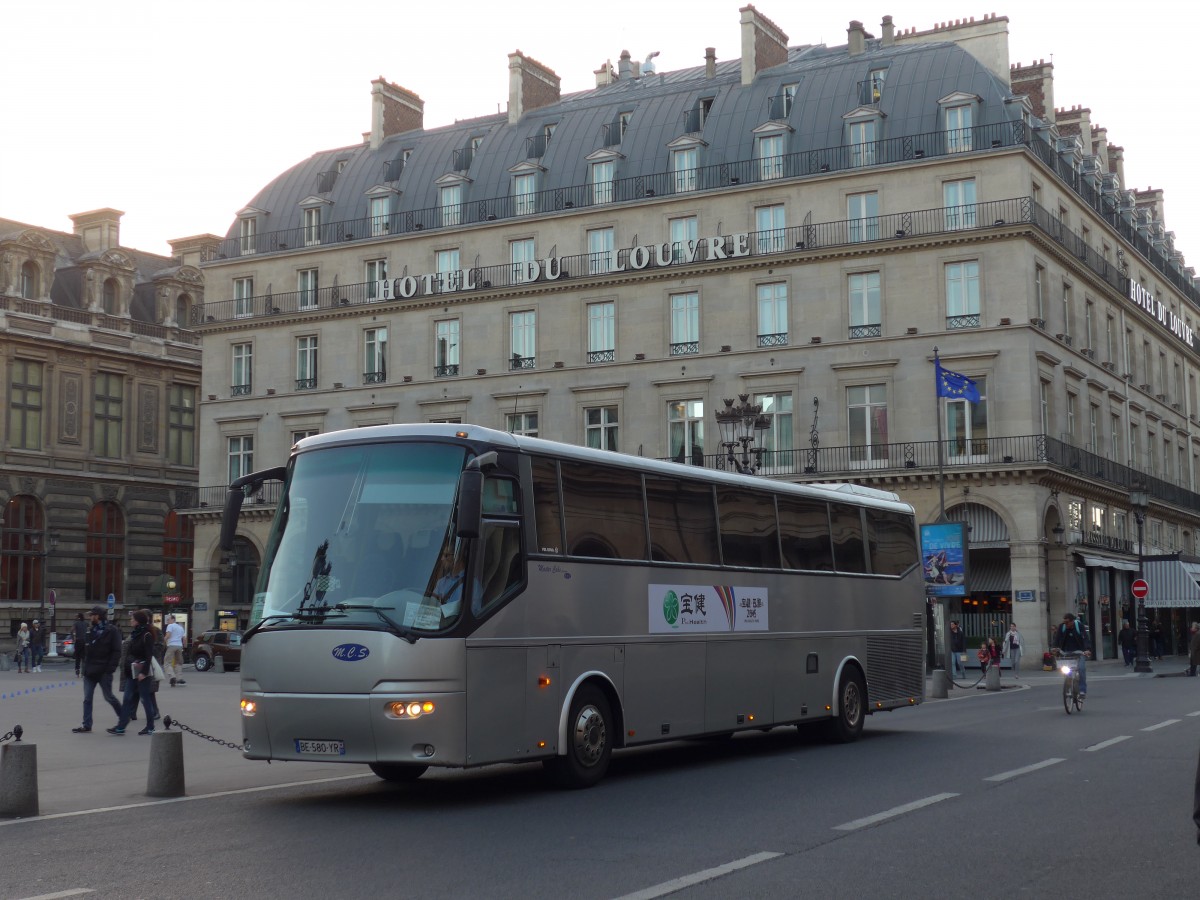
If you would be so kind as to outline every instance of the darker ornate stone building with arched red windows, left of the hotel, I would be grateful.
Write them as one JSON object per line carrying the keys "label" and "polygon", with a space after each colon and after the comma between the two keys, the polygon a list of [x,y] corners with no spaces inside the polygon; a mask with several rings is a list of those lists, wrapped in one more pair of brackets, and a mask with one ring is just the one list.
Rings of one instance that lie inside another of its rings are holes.
{"label": "darker ornate stone building with arched red windows, left of the hotel", "polygon": [[[125,247],[124,214],[64,233],[0,218],[0,634],[52,614],[191,604],[200,247]],[[174,587],[166,586],[174,583]],[[52,594],[54,606],[52,607]]]}

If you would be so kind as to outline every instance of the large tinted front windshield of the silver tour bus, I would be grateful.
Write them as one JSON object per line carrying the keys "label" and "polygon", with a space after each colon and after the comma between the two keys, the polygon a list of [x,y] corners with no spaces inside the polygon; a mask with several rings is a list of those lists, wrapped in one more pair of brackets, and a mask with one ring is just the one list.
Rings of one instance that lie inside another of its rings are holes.
{"label": "large tinted front windshield of the silver tour bus", "polygon": [[388,443],[299,454],[271,527],[253,620],[439,631],[462,611],[461,446]]}

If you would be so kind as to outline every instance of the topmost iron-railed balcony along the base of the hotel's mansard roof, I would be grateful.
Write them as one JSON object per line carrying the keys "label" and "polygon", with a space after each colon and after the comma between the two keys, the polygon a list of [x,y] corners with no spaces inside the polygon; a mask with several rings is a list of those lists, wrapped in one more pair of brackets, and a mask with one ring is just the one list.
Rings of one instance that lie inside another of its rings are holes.
{"label": "topmost iron-railed balcony along the base of the hotel's mansard roof", "polygon": [[[619,121],[608,122],[602,126],[604,146],[620,144],[622,137],[623,127]],[[863,167],[895,166],[941,156],[982,154],[1018,146],[1030,150],[1038,160],[1051,168],[1072,191],[1104,217],[1177,290],[1200,305],[1200,289],[1192,282],[1190,276],[1183,270],[1183,266],[1164,254],[1147,236],[1138,230],[1136,224],[1127,217],[1126,212],[1122,212],[1118,199],[1115,196],[1104,194],[1098,191],[1092,181],[1075,169],[1068,158],[1064,158],[1049,144],[1045,137],[1019,121],[956,128],[953,132],[925,132],[866,144],[844,144],[824,149],[799,150],[782,156],[781,166],[768,167],[766,173],[760,166],[760,160],[740,160],[692,169],[692,176],[688,179],[679,179],[679,173],[676,172],[617,179],[612,181],[611,190],[602,192],[594,191],[594,186],[590,184],[551,188],[535,196],[535,209],[542,212],[586,209],[601,204],[642,200],[647,197],[668,197],[680,191],[722,191],[762,180],[774,180],[776,178],[812,178]],[[452,158],[454,170],[463,172],[469,169],[473,157],[474,148],[467,146],[455,150]],[[389,174],[398,176],[398,172]],[[511,218],[520,214],[512,197],[494,197],[456,204],[450,215],[446,215],[445,209],[442,206],[394,212],[388,217],[388,227],[383,233],[402,235],[433,228],[494,222],[497,220]],[[322,245],[328,245],[340,241],[366,240],[377,238],[380,233],[382,229],[378,227],[371,227],[370,218],[343,220],[322,224],[320,242]],[[1076,240],[1084,244],[1078,236]],[[204,262],[236,259],[254,253],[284,252],[302,248],[304,246],[304,228],[288,228],[266,232],[260,235],[229,238],[218,241],[205,253]],[[1085,250],[1081,247],[1079,252],[1080,254],[1085,254],[1088,251],[1090,248]]]}

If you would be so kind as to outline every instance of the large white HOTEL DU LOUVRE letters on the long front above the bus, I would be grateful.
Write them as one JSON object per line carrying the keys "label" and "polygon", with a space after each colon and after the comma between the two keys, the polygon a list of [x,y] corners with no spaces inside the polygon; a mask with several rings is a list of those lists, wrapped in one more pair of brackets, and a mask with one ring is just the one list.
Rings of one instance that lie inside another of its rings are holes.
{"label": "large white HOTEL DU LOUVRE letters on the long front above the bus", "polygon": [[[588,275],[612,275],[614,272],[640,271],[642,269],[665,269],[672,265],[707,263],[719,259],[737,259],[754,256],[751,236],[779,252],[782,244],[782,229],[775,232],[737,232],[734,234],[713,235],[695,240],[643,244],[630,250],[611,250],[584,254],[588,263]],[[559,257],[530,259],[524,263],[505,263],[502,266],[512,272],[514,284],[533,284],[538,282],[558,281],[563,277],[563,260]],[[398,278],[376,282],[377,299],[409,300],[414,296],[430,294],[449,294],[460,290],[478,290],[491,287],[491,283],[479,281],[480,269],[455,269],[426,275],[403,275]]]}

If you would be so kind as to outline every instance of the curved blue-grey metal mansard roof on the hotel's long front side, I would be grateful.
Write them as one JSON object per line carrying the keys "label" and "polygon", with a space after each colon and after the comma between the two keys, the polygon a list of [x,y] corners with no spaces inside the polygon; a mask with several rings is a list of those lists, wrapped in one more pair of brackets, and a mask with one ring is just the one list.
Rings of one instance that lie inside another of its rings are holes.
{"label": "curved blue-grey metal mansard roof on the hotel's long front side", "polygon": [[[974,125],[1020,115],[1019,104],[1004,102],[1012,97],[1008,84],[953,42],[868,41],[866,52],[853,56],[846,46],[792,47],[787,62],[760,72],[744,86],[740,61],[730,60],[718,64],[712,78],[697,66],[565,95],[526,113],[515,125],[502,113],[394,134],[374,150],[362,143],[317,152],[268,184],[247,206],[268,214],[260,232],[299,227],[301,203],[314,193],[332,203],[330,221],[365,216],[367,192],[384,182],[400,192],[394,212],[433,208],[438,179],[455,174],[455,151],[468,149],[474,138],[481,139],[479,150],[469,168],[458,173],[469,179],[463,199],[506,197],[514,166],[529,158],[527,140],[551,124],[553,137],[538,160],[545,169],[539,190],[583,185],[589,155],[605,148],[605,126],[622,113],[631,115],[619,145],[610,144],[622,157],[617,178],[662,173],[670,170],[668,144],[686,133],[684,116],[702,98],[712,98],[700,132],[702,164],[750,160],[755,128],[772,119],[770,98],[790,84],[798,89],[786,120],[794,130],[788,152],[839,146],[846,143],[844,115],[863,106],[862,84],[878,68],[887,70],[878,103],[886,121],[884,133],[876,136],[881,139],[938,131],[938,100],[955,91],[980,97]],[[386,181],[389,163],[404,150],[410,152],[398,178]],[[228,236],[236,236],[236,222]]]}

